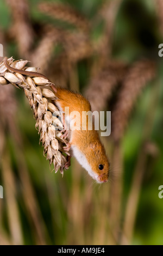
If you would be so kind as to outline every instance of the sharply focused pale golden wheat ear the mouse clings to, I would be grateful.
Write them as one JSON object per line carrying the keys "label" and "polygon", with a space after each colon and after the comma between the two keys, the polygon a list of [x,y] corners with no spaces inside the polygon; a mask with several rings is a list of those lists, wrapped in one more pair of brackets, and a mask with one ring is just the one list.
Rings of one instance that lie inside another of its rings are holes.
{"label": "sharply focused pale golden wheat ear the mouse clings to", "polygon": [[[14,61],[12,57],[8,59],[8,64],[12,68],[36,71],[36,68],[28,68],[26,66],[27,62],[27,60]],[[59,110],[52,103],[54,100],[57,100],[54,92],[49,88],[52,83],[43,77],[31,78],[30,76],[12,72],[7,69],[2,61],[0,63],[0,84],[3,86],[12,84],[16,87],[23,88],[30,107],[33,109],[36,128],[40,133],[40,142],[42,142],[42,146],[44,147],[43,154],[46,154],[50,164],[54,164],[55,172],[58,172],[60,168],[60,172],[63,174],[66,163],[66,157],[63,153],[65,153],[64,145],[67,144],[67,141],[62,138],[61,131],[56,129],[58,127],[62,130],[64,127],[56,117],[59,115]],[[68,153],[66,154],[68,155]]]}

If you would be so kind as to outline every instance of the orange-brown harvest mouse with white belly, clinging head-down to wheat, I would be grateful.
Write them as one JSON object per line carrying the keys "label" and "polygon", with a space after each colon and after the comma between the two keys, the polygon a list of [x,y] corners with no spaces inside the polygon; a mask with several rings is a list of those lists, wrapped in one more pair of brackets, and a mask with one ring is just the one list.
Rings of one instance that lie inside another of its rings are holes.
{"label": "orange-brown harvest mouse with white belly, clinging head-down to wheat", "polygon": [[[58,100],[55,104],[61,112],[65,111],[65,107],[69,107],[69,112],[78,111],[80,113],[79,123],[82,124],[82,112],[91,111],[89,101],[84,96],[78,93],[73,93],[70,90],[57,88],[55,95]],[[89,119],[87,120],[87,122]],[[70,125],[70,115],[65,113],[65,123]],[[68,149],[70,153],[76,157],[78,162],[87,170],[87,172],[97,182],[102,183],[108,181],[109,176],[109,161],[105,154],[105,149],[99,139],[98,132],[95,127],[92,130],[71,130],[69,131]],[[86,124],[86,128],[88,125]]]}

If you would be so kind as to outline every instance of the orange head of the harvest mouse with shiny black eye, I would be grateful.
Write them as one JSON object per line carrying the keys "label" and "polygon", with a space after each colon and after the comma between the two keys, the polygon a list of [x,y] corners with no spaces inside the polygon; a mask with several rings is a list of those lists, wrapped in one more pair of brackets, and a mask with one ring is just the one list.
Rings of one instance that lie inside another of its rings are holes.
{"label": "orange head of the harvest mouse with shiny black eye", "polygon": [[109,161],[100,141],[89,145],[89,163],[92,169],[92,178],[98,183],[107,182],[109,178]]}

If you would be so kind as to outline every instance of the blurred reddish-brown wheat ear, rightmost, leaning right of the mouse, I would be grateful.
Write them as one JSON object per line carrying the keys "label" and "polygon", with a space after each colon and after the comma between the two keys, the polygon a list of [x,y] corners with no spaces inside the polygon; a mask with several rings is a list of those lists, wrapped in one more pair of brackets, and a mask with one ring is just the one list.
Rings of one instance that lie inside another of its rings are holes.
{"label": "blurred reddish-brown wheat ear, rightmost, leaning right of the mouse", "polygon": [[139,60],[129,69],[112,111],[112,137],[115,141],[122,138],[137,97],[155,73],[155,62],[147,59]]}

